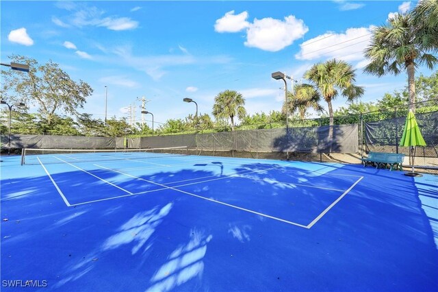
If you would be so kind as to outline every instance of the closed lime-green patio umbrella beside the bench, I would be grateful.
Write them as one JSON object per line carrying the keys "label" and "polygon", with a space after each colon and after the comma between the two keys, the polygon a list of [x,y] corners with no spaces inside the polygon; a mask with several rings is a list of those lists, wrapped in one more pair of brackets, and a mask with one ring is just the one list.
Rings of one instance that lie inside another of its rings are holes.
{"label": "closed lime-green patio umbrella beside the bench", "polygon": [[426,142],[422,136],[422,132],[420,132],[420,127],[418,127],[417,121],[415,120],[415,115],[412,110],[409,110],[408,116],[406,118],[406,123],[404,123],[403,136],[400,140],[400,146],[409,147],[410,154],[412,156],[412,171],[408,173],[404,173],[404,175],[409,176],[421,176],[420,173],[414,172],[414,161],[415,161],[415,153],[413,153],[415,147],[417,146],[426,146]]}

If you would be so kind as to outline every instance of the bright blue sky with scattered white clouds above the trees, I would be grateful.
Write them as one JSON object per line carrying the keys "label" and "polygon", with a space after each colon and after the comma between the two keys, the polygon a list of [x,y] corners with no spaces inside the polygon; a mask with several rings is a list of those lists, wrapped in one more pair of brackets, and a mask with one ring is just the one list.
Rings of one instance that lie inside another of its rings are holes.
{"label": "bright blue sky with scattered white clouds above the trees", "polygon": [[[211,114],[214,97],[237,90],[249,113],[280,110],[282,71],[300,80],[316,62],[346,60],[363,101],[401,90],[407,77],[362,73],[370,28],[409,1],[1,1],[1,62],[12,53],[53,60],[94,93],[81,112],[129,117],[140,101],[155,121]],[[429,71],[420,69],[428,75]],[[290,88],[290,84],[289,84]],[[333,106],[344,106],[342,98]],[[324,105],[326,106],[326,105]],[[150,120],[151,116],[146,117]]]}

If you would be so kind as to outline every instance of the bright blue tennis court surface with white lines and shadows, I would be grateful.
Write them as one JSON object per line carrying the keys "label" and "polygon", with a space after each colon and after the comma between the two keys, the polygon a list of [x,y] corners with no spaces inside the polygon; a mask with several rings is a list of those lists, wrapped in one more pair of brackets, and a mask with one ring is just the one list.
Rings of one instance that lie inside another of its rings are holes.
{"label": "bright blue tennis court surface with white lines and shadows", "polygon": [[437,176],[211,156],[39,157],[2,157],[4,291],[438,290]]}

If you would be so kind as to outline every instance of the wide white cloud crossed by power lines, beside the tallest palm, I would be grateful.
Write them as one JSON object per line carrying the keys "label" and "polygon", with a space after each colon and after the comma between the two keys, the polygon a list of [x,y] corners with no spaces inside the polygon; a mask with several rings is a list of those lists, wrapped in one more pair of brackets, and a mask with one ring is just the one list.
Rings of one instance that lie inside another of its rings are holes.
{"label": "wide white cloud crossed by power lines, beside the tallest palm", "polygon": [[303,42],[295,55],[298,60],[338,58],[345,61],[363,60],[363,50],[371,40],[371,27],[349,28],[345,33],[326,32]]}

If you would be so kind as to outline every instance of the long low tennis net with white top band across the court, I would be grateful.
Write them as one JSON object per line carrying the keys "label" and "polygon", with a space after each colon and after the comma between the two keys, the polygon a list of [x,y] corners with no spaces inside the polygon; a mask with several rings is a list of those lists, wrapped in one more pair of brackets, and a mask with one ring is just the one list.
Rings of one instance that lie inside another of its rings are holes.
{"label": "long low tennis net with white top band across the court", "polygon": [[188,146],[146,148],[146,149],[33,149],[21,152],[21,165],[52,163],[79,163],[107,160],[142,160],[146,158],[166,158],[188,156]]}

